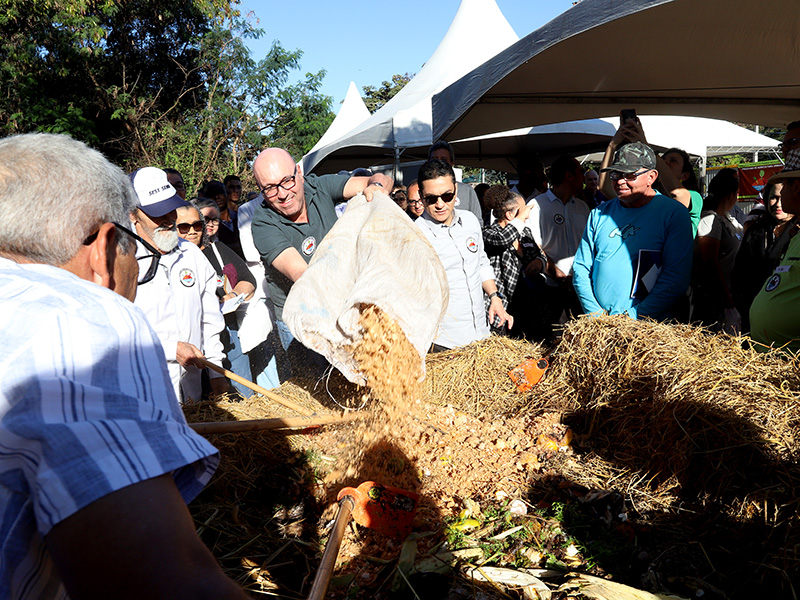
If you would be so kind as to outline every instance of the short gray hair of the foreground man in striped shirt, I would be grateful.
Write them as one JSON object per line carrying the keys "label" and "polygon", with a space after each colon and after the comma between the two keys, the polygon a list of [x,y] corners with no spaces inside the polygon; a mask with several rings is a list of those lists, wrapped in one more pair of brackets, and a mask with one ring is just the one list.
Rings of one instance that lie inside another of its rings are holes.
{"label": "short gray hair of the foreground man in striped shirt", "polygon": [[[0,140],[0,254],[69,262],[101,225],[127,226],[136,194],[122,169],[66,135]],[[124,253],[133,240],[117,231]]]}

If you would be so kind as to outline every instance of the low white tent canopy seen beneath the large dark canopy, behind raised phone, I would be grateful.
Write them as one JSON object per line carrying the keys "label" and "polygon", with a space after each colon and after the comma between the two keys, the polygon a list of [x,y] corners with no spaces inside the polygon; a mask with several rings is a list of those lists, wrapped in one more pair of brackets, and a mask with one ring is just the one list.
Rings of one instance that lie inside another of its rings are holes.
{"label": "low white tent canopy seen beneath the large dark canopy, behind raised phone", "polygon": [[[647,141],[656,150],[681,148],[703,162],[708,156],[778,147],[776,140],[728,121],[665,115],[639,118]],[[537,153],[546,163],[560,154],[599,152],[602,156],[618,124],[619,117],[569,121],[458,140],[452,146],[460,165],[515,172],[518,157],[525,153]]]}

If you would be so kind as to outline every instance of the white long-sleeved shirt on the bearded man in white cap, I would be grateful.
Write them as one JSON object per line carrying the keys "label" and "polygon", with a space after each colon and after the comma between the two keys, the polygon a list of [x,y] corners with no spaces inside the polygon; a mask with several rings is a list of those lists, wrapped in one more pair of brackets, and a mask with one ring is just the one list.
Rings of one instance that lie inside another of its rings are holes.
{"label": "white long-sleeved shirt on the bearded man in white cap", "polygon": [[[139,244],[136,256],[146,253]],[[217,274],[211,263],[200,248],[183,239],[175,250],[161,255],[153,280],[136,289],[134,304],[142,309],[161,340],[178,398],[180,388],[185,399],[199,400],[202,394],[200,369],[184,369],[178,364],[178,342],[197,346],[216,365],[221,366],[225,358],[219,337],[225,321],[216,290]],[[215,371],[209,375],[222,377]]]}

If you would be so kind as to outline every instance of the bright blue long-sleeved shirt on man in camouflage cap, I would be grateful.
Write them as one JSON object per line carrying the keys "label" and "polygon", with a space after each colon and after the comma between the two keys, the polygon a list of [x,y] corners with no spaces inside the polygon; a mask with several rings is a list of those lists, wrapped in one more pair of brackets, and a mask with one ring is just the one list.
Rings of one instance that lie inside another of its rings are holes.
{"label": "bright blue long-sleeved shirt on man in camouflage cap", "polygon": [[[685,293],[692,269],[692,227],[686,209],[656,195],[640,208],[619,200],[589,215],[575,255],[573,283],[586,313],[627,313],[664,319]],[[659,257],[661,272],[649,293],[632,298],[640,251]]]}

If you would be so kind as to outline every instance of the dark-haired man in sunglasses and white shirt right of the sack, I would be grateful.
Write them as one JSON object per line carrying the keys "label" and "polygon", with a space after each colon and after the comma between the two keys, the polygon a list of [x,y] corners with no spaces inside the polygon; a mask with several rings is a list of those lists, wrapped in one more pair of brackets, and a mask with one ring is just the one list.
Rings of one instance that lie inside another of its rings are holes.
{"label": "dark-haired man in sunglasses and white shirt right of the sack", "polygon": [[[495,327],[506,324],[510,329],[514,317],[506,312],[497,290],[494,269],[483,249],[481,223],[472,212],[455,207],[453,168],[443,160],[429,160],[420,167],[417,183],[425,212],[414,222],[442,261],[450,287],[450,301],[433,350],[489,337],[490,321]],[[488,315],[484,294],[489,297]]]}

